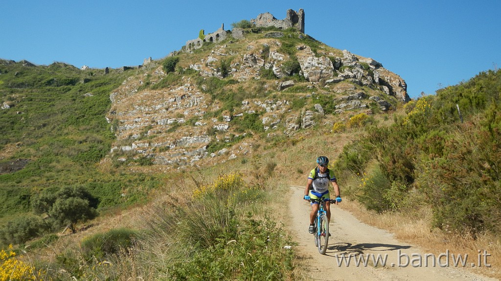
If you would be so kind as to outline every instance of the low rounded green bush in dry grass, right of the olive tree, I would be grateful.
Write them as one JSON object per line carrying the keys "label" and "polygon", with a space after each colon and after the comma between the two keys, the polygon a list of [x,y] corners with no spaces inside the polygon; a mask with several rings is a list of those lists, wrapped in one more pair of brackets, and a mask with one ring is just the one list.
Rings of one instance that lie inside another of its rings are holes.
{"label": "low rounded green bush in dry grass, right of the olive tree", "polygon": [[138,231],[130,228],[115,228],[86,237],[80,243],[82,256],[90,261],[93,258],[103,260],[109,255],[119,254],[121,249],[134,245],[138,234]]}

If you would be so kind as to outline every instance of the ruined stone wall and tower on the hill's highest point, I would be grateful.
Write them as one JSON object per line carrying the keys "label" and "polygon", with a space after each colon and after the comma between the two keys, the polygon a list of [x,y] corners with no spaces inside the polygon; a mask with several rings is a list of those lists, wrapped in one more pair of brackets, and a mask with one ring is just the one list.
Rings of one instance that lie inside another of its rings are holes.
{"label": "ruined stone wall and tower on the hill's highest point", "polygon": [[289,27],[296,27],[301,32],[305,32],[305,11],[299,9],[299,12],[288,9],[287,16],[284,19],[277,19],[269,12],[261,13],[258,17],[253,18],[250,22],[254,23],[257,27],[275,26],[278,28],[286,29]]}

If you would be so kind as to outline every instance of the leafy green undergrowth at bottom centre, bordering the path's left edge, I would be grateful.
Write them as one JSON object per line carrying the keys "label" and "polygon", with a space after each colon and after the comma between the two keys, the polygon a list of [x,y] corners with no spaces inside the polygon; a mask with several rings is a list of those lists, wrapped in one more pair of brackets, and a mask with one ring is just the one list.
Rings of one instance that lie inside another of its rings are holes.
{"label": "leafy green undergrowth at bottom centre, bordering the path's left edge", "polygon": [[[208,248],[193,251],[190,262],[180,259],[168,270],[173,279],[233,280],[261,276],[266,280],[289,280],[294,269],[292,244],[283,237],[283,227],[271,219],[238,222],[233,239],[221,239]],[[221,229],[225,230],[225,229]]]}

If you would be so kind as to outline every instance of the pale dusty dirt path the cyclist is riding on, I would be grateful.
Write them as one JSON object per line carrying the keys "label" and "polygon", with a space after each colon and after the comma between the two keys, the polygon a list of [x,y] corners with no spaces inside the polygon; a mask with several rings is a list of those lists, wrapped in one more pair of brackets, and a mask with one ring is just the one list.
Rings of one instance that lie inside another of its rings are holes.
{"label": "pale dusty dirt path the cyclist is riding on", "polygon": [[[431,253],[423,252],[418,247],[396,240],[391,233],[360,222],[350,212],[333,205],[330,223],[329,245],[325,255],[321,255],[314,244],[313,235],[308,233],[311,207],[303,200],[304,186],[291,186],[289,211],[294,240],[297,250],[303,255],[311,268],[308,275],[316,280],[497,280],[468,272],[460,265],[454,266],[449,252],[449,264],[446,257],[438,259],[435,254],[435,266]],[[343,258],[343,254],[344,257]],[[428,256],[426,256],[428,254]],[[348,256],[352,256],[348,259]],[[374,266],[377,257],[377,266]],[[357,258],[364,257],[357,266]],[[480,256],[483,262],[483,256]],[[374,259],[373,259],[374,258]],[[382,265],[386,258],[385,265]],[[421,261],[419,261],[421,259]],[[349,261],[349,265],[347,262]],[[427,264],[426,264],[427,261]],[[465,266],[477,266],[478,257],[468,256]],[[488,259],[487,259],[488,263]],[[420,265],[421,266],[418,266]],[[481,263],[482,266],[484,265]],[[414,267],[414,266],[416,267]],[[427,266],[426,266],[427,265]],[[442,265],[443,267],[441,267]]]}

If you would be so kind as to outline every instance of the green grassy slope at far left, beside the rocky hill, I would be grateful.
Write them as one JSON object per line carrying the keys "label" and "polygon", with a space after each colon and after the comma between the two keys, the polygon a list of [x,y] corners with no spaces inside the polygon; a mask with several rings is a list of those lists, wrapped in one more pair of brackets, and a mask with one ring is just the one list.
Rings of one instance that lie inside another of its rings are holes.
{"label": "green grassy slope at far left, beside the rocky hill", "polygon": [[103,69],[21,62],[0,65],[0,71],[0,98],[11,105],[0,110],[0,164],[28,159],[25,168],[0,174],[0,221],[28,212],[30,196],[51,186],[84,185],[101,206],[110,207],[144,198],[120,198],[127,184],[143,191],[156,185],[151,176],[122,177],[95,166],[115,138],[104,118],[109,94],[131,73],[112,69],[104,75]]}

